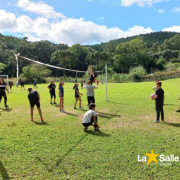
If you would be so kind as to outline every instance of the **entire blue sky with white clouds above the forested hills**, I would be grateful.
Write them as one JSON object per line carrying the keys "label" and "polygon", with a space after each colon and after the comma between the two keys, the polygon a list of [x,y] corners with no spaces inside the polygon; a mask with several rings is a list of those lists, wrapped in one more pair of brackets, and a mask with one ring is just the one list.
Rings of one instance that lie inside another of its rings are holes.
{"label": "entire blue sky with white clouds above the forested hills", "polygon": [[0,33],[29,41],[99,44],[180,32],[180,0],[0,0]]}

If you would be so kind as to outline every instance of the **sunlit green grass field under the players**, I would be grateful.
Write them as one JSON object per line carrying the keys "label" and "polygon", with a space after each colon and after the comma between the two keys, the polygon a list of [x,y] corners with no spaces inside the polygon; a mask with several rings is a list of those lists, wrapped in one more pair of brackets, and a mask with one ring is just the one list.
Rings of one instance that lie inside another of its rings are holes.
{"label": "sunlit green grass field under the players", "polygon": [[[180,79],[163,81],[165,121],[155,124],[154,82],[109,84],[96,90],[101,133],[85,133],[81,119],[87,111],[74,110],[73,84],[65,84],[65,110],[50,105],[47,84],[39,85],[44,123],[37,110],[30,121],[27,91],[13,87],[9,109],[0,110],[0,179],[180,179],[180,162],[161,165],[138,162],[144,153],[180,157]],[[56,83],[57,85],[57,83]],[[26,86],[26,89],[29,86]],[[57,98],[59,102],[59,98]],[[147,158],[148,159],[148,158]]]}

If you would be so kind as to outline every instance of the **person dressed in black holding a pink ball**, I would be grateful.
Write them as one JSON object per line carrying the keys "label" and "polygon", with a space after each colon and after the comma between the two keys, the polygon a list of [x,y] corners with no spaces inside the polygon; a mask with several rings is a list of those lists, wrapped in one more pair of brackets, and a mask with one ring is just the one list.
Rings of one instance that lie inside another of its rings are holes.
{"label": "person dressed in black holding a pink ball", "polygon": [[161,114],[161,120],[162,122],[164,122],[164,110],[163,110],[163,106],[164,106],[164,91],[161,88],[162,83],[161,82],[157,82],[156,85],[156,96],[153,98],[153,100],[156,101],[156,120],[154,121],[155,123],[159,122],[159,118],[160,118],[160,114]]}

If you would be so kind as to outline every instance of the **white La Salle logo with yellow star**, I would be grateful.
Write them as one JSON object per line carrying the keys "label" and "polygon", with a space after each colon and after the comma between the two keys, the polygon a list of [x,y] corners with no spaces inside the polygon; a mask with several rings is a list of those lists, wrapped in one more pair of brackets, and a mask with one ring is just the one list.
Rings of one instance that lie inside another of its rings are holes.
{"label": "white La Salle logo with yellow star", "polygon": [[170,155],[170,156],[165,156],[163,154],[159,155],[159,154],[154,154],[153,150],[151,151],[151,154],[147,154],[144,153],[147,157],[149,157],[148,162],[147,162],[147,157],[146,156],[140,156],[138,155],[138,162],[147,162],[147,165],[149,165],[152,161],[158,163],[157,161],[157,157],[159,156],[159,161],[161,163],[163,162],[178,162],[179,161],[179,157],[178,156],[174,156],[174,155]]}

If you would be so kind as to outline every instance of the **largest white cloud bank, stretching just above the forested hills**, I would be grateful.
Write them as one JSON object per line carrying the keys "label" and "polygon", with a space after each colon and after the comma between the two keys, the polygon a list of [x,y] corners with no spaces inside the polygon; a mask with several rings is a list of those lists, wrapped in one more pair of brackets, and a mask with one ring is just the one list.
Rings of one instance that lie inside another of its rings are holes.
{"label": "largest white cloud bank, stretching just above the forested hills", "polygon": [[[30,2],[29,0],[24,2],[27,1]],[[34,13],[37,14],[36,11]],[[56,18],[57,14],[59,13],[55,11],[49,16],[42,13],[41,17],[32,19],[27,15],[15,16],[13,13],[0,10],[0,32],[21,33],[30,41],[49,40],[68,45],[107,42],[112,39],[152,32],[151,28],[142,26],[134,26],[126,31],[117,27],[108,28],[83,18],[49,20],[52,17]]]}

